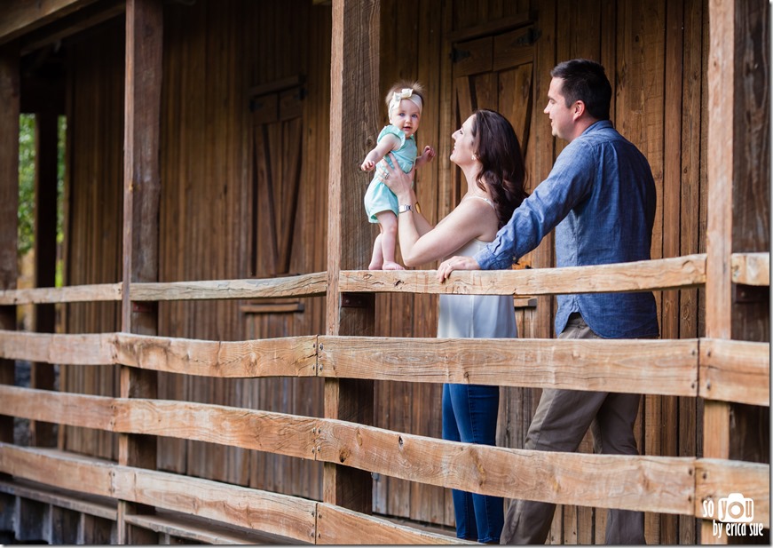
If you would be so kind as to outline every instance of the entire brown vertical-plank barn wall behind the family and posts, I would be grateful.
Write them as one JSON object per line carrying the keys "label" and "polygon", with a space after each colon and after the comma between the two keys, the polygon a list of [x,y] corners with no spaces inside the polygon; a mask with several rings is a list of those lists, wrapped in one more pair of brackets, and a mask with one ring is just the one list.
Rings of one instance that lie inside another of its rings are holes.
{"label": "entire brown vertical-plank barn wall behind the family and posts", "polygon": [[[454,207],[447,157],[452,119],[449,33],[532,11],[535,43],[532,122],[527,169],[533,187],[549,172],[563,143],[550,137],[542,114],[556,60],[601,60],[614,87],[619,130],[650,159],[658,185],[653,258],[705,251],[706,233],[706,3],[704,0],[420,0],[415,24],[403,24],[395,0],[383,0],[381,84],[417,78],[428,90],[419,144],[438,158],[417,180],[422,210],[437,221]],[[330,8],[307,0],[233,0],[166,4],[162,97],[162,282],[249,277],[256,174],[251,136],[251,88],[303,76],[305,96],[300,199],[290,255],[292,274],[326,269],[329,135]],[[72,44],[69,109],[67,282],[120,281],[122,180],[122,22]],[[382,99],[379,108],[383,112]],[[380,128],[373,128],[373,134]],[[346,128],[342,128],[346,131]],[[99,151],[95,154],[94,151]],[[363,155],[367,144],[362,144]],[[363,193],[368,177],[363,174]],[[254,209],[256,213],[254,213]],[[365,218],[363,215],[363,222]],[[375,232],[374,232],[375,236]],[[532,266],[552,266],[552,241]],[[363,263],[363,267],[366,263]],[[428,266],[431,267],[431,266]],[[702,334],[702,291],[657,294],[664,338]],[[295,301],[294,301],[295,302]],[[303,311],[246,312],[248,302],[162,302],[162,336],[238,340],[324,333],[324,298],[301,298]],[[518,309],[521,337],[553,337],[553,298]],[[433,337],[435,296],[378,295],[376,334]],[[114,304],[68,307],[71,332],[117,330]],[[65,388],[117,393],[109,368],[67,369]],[[498,439],[522,447],[539,391],[503,389]],[[160,374],[159,396],[320,416],[322,385],[315,379],[201,379]],[[376,426],[440,436],[440,386],[376,383]],[[695,455],[700,410],[694,399],[647,397],[637,426],[651,455]],[[114,457],[111,436],[73,428],[62,444]],[[589,450],[589,441],[583,445]],[[320,498],[321,468],[290,457],[161,439],[159,467],[214,480]],[[445,489],[375,478],[375,511],[450,525]],[[567,507],[556,513],[551,541],[603,541],[603,512]],[[695,542],[689,517],[647,517],[648,542]]]}

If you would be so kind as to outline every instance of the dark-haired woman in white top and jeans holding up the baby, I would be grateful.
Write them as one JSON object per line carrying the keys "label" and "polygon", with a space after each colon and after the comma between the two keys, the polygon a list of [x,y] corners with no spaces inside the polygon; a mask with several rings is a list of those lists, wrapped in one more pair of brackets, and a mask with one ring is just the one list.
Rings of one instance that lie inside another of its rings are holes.
{"label": "dark-haired woman in white top and jeans holding up the baby", "polygon": [[[467,193],[456,208],[432,227],[415,207],[413,172],[385,163],[385,182],[398,197],[400,252],[406,266],[454,255],[472,256],[526,197],[524,159],[515,131],[504,116],[478,110],[451,136],[451,161],[467,179]],[[517,337],[513,298],[497,295],[441,295],[438,338]],[[443,439],[495,445],[499,387],[443,386]],[[499,543],[503,501],[454,489],[456,536]]]}

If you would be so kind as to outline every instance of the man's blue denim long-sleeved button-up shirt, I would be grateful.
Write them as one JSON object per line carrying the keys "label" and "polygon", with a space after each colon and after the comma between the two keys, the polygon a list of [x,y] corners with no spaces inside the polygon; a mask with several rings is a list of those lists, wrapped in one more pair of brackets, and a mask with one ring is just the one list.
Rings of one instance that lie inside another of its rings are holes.
{"label": "man's blue denim long-sleeved button-up shirt", "polygon": [[[475,259],[484,270],[510,268],[556,228],[556,266],[650,258],[655,182],[644,155],[610,121],[572,140],[553,170]],[[657,337],[651,292],[559,295],[556,334],[579,312],[603,338]]]}

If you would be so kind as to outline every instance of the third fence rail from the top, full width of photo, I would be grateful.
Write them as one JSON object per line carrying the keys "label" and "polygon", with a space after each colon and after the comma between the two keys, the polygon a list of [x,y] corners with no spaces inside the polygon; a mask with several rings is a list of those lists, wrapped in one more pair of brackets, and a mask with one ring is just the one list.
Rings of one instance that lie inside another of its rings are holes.
{"label": "third fence rail from the top, full width of photo", "polygon": [[[12,386],[0,387],[0,397],[4,401],[3,413],[14,417],[117,433],[207,441],[354,466],[447,488],[556,504],[690,515],[702,512],[694,504],[697,490],[702,496],[722,497],[729,494],[722,489],[730,485],[747,488],[745,493],[763,495],[769,483],[769,465],[730,461],[700,465],[701,459],[695,457],[506,449],[437,440],[334,419],[185,401],[45,393]],[[83,413],[83,409],[87,412]],[[0,472],[40,480],[17,473],[19,465],[6,464],[4,452],[9,450],[14,454],[15,449],[0,445]],[[710,473],[696,475],[698,466]],[[722,483],[715,480],[717,477],[731,481]],[[703,480],[709,481],[709,485],[699,487]],[[72,488],[59,484],[58,487]],[[767,524],[768,503],[755,500],[759,501],[755,508],[756,520]]]}

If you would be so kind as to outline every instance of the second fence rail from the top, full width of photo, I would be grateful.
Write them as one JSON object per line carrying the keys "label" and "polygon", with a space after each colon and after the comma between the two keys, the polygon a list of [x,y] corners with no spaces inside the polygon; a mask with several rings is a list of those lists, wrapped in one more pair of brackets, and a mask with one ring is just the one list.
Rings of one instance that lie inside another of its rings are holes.
{"label": "second fence rail from the top, full width of photo", "polygon": [[[0,330],[0,358],[207,377],[327,377],[556,387],[769,405],[769,343],[305,336],[206,341]],[[701,379],[698,384],[698,378]]]}

